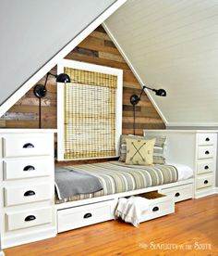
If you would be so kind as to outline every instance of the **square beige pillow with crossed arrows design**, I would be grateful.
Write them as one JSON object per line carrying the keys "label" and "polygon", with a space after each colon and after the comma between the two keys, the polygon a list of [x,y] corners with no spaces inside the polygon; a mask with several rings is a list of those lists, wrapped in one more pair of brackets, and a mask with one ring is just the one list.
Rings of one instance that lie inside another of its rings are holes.
{"label": "square beige pillow with crossed arrows design", "polygon": [[132,139],[127,138],[127,164],[150,165],[153,163],[153,147],[155,138]]}

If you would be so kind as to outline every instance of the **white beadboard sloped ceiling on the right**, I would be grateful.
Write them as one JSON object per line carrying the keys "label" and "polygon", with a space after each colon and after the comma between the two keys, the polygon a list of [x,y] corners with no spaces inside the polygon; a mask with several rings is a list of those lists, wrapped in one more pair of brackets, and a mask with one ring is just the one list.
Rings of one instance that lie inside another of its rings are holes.
{"label": "white beadboard sloped ceiling on the right", "polygon": [[128,0],[105,22],[166,125],[218,125],[218,0]]}

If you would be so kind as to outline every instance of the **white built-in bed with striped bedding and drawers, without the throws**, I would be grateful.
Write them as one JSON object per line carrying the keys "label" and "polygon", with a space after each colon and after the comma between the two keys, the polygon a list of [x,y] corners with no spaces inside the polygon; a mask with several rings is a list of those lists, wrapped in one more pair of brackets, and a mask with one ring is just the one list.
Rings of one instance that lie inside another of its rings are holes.
{"label": "white built-in bed with striped bedding and drawers, without the throws", "polygon": [[97,177],[103,189],[60,199],[56,186],[58,232],[115,219],[118,198],[132,195],[144,197],[146,192],[151,191],[155,191],[157,195],[163,194],[164,197],[151,199],[150,210],[142,217],[142,221],[146,221],[174,212],[176,201],[193,196],[193,173],[184,165],[144,166],[108,161],[65,166],[64,169]]}

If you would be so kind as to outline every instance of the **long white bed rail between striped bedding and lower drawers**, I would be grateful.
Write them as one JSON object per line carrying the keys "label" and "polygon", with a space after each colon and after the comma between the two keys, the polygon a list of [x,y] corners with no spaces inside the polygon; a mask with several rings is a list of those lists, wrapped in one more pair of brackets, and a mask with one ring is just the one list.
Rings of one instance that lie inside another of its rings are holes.
{"label": "long white bed rail between striped bedding and lower drawers", "polygon": [[[104,200],[130,197],[130,196],[134,196],[134,195],[151,192],[154,190],[161,190],[163,188],[171,188],[171,187],[183,186],[183,185],[188,185],[188,184],[193,184],[193,183],[194,183],[194,179],[190,178],[188,180],[182,180],[182,181],[178,181],[175,183],[169,183],[169,184],[164,184],[164,185],[160,185],[160,186],[150,186],[150,187],[131,190],[131,191],[123,192],[123,193],[116,193],[116,194],[112,194],[112,195],[108,195],[108,196],[102,196],[102,197],[97,197],[97,198],[87,198],[87,199],[82,199],[82,200],[77,200],[77,201],[69,201],[66,203],[55,204],[55,210],[63,210],[63,209],[70,208],[70,207],[76,207],[76,206],[81,206],[81,205],[95,203],[95,202],[102,202]],[[194,184],[193,184],[193,186],[194,186]],[[194,194],[192,195],[192,197],[194,197]]]}

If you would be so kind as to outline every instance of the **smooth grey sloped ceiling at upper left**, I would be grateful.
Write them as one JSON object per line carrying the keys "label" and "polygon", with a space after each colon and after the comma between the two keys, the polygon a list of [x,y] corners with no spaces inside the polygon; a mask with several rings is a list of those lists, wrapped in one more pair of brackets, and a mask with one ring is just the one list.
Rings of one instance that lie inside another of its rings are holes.
{"label": "smooth grey sloped ceiling at upper left", "polygon": [[1,0],[0,106],[115,0]]}

